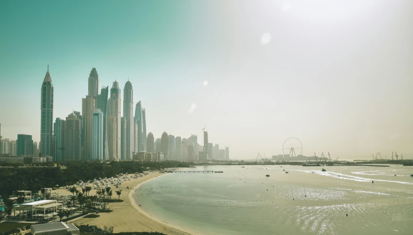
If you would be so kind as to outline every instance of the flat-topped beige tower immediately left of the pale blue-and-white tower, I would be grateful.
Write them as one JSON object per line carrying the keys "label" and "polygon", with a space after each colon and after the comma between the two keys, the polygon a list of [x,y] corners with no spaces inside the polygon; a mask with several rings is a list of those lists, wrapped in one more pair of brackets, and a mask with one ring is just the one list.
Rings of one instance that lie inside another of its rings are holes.
{"label": "flat-topped beige tower immediately left of the pale blue-and-white tower", "polygon": [[95,99],[93,97],[87,96],[82,98],[82,160],[85,161],[92,160],[92,116],[95,108]]}

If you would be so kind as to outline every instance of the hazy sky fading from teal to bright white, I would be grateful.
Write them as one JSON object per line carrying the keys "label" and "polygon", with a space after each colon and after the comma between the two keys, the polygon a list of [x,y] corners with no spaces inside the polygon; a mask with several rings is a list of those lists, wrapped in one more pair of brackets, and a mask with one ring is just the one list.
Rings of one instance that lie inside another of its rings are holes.
{"label": "hazy sky fading from teal to bright white", "polygon": [[39,141],[47,65],[54,119],[81,111],[96,67],[100,86],[129,78],[155,138],[202,144],[205,127],[231,159],[282,154],[289,137],[305,156],[412,158],[412,13],[411,0],[3,0],[1,136]]}

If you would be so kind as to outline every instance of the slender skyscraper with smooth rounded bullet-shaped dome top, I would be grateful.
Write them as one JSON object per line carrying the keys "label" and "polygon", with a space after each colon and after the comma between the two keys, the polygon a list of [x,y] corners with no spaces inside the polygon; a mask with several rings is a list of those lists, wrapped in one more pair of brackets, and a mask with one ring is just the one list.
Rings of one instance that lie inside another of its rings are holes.
{"label": "slender skyscraper with smooth rounded bullet-shaped dome top", "polygon": [[126,153],[125,160],[132,159],[133,144],[133,89],[128,80],[123,88],[123,117],[126,118]]}

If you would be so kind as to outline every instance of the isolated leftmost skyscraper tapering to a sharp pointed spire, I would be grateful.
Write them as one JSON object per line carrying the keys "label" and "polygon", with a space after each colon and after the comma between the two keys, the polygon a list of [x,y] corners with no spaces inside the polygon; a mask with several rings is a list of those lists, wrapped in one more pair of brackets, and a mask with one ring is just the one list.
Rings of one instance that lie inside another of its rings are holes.
{"label": "isolated leftmost skyscraper tapering to a sharp pointed spire", "polygon": [[43,156],[50,156],[52,135],[53,135],[53,83],[47,65],[46,76],[41,85],[40,102],[40,153]]}

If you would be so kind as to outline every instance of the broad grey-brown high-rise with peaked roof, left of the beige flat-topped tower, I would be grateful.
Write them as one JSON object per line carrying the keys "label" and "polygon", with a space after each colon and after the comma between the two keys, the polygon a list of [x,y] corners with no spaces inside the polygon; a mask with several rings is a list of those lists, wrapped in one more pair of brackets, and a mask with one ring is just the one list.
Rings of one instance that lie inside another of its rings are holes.
{"label": "broad grey-brown high-rise with peaked roof, left of the beige flat-topped tower", "polygon": [[65,121],[63,160],[82,159],[81,140],[82,121],[73,112],[66,117]]}

